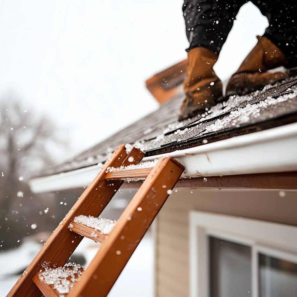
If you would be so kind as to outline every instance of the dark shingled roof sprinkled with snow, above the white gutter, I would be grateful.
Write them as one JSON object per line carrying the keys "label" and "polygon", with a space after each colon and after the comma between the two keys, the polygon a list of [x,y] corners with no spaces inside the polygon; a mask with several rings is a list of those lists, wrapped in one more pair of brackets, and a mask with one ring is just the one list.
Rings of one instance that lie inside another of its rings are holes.
{"label": "dark shingled roof sprinkled with snow, above the white gutter", "polygon": [[[42,176],[74,172],[94,166],[98,171],[97,164],[105,162],[122,143],[136,144],[146,152],[146,159],[152,159],[160,154],[174,154],[177,150],[181,152],[192,148],[197,151],[198,147],[206,145],[209,148],[211,143],[297,121],[296,78],[276,83],[274,86],[268,85],[262,91],[245,96],[232,96],[205,114],[184,121],[177,119],[184,97],[181,90],[179,87],[174,98],[160,105],[155,112],[43,173]],[[249,139],[252,141],[253,136]]]}

